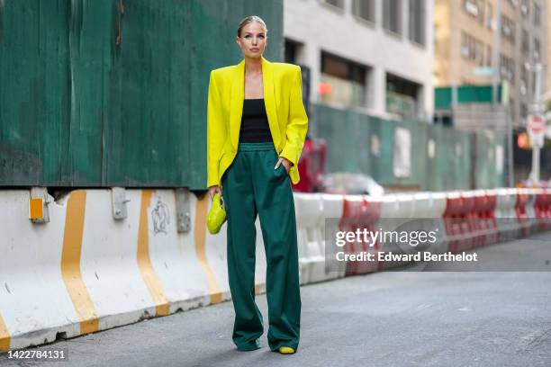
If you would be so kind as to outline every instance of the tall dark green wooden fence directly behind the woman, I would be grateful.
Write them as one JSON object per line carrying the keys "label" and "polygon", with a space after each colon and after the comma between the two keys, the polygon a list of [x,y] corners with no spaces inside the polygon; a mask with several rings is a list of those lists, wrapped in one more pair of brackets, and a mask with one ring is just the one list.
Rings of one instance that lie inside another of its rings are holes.
{"label": "tall dark green wooden fence directly behind the woman", "polygon": [[0,1],[0,185],[206,184],[212,68],[244,16],[283,58],[283,0]]}

